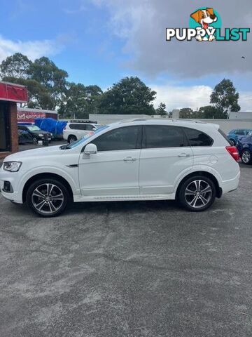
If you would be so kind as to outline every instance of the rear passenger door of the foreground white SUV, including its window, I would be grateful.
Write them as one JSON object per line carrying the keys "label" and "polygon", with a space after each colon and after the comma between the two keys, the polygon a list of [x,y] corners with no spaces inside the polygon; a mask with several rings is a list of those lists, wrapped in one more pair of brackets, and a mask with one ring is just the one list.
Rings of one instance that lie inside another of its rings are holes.
{"label": "rear passenger door of the foreground white SUV, including its window", "polygon": [[170,194],[193,167],[193,151],[179,126],[144,126],[139,168],[141,194]]}

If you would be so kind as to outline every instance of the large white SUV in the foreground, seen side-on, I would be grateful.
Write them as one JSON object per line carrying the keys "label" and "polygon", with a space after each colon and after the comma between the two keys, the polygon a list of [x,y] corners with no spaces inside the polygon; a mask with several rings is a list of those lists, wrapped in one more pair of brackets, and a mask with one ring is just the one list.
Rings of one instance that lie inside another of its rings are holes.
{"label": "large white SUV in the foreground, seen side-on", "polygon": [[104,126],[71,145],[11,154],[3,197],[57,216],[71,201],[177,199],[204,211],[237,189],[239,154],[218,125],[153,119]]}

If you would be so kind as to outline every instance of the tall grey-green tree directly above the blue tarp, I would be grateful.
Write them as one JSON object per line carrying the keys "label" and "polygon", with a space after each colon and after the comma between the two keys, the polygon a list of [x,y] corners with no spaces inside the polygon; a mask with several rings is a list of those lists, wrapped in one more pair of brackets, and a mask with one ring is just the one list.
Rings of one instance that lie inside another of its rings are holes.
{"label": "tall grey-green tree directly above the blue tarp", "polygon": [[29,67],[29,77],[42,84],[50,94],[52,108],[60,105],[66,91],[67,72],[59,69],[48,58],[38,58]]}

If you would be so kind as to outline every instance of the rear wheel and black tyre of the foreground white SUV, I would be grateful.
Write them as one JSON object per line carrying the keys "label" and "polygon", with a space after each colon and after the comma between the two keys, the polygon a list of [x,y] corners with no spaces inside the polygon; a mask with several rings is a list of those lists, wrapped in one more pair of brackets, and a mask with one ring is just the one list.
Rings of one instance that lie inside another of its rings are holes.
{"label": "rear wheel and black tyre of the foreground white SUV", "polygon": [[214,203],[216,187],[211,179],[194,176],[183,182],[178,197],[181,204],[189,211],[205,211]]}

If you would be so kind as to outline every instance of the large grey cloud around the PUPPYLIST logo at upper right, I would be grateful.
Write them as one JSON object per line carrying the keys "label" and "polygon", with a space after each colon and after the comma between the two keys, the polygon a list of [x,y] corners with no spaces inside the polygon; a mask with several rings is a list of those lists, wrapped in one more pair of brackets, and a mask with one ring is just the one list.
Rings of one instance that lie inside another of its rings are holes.
{"label": "large grey cloud around the PUPPYLIST logo at upper right", "polygon": [[[167,27],[188,27],[190,13],[202,6],[201,0],[92,0],[106,6],[113,34],[124,39],[123,50],[132,55],[128,63],[148,77],[175,74],[204,77],[208,74],[252,73],[252,32],[248,41],[203,42],[165,41]],[[251,27],[251,0],[213,0],[223,27]],[[241,60],[245,55],[246,60]],[[244,62],[243,62],[244,61]]]}

